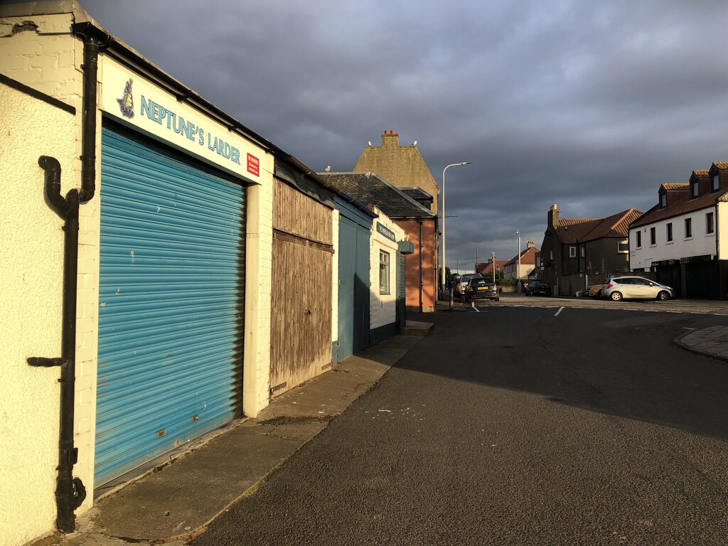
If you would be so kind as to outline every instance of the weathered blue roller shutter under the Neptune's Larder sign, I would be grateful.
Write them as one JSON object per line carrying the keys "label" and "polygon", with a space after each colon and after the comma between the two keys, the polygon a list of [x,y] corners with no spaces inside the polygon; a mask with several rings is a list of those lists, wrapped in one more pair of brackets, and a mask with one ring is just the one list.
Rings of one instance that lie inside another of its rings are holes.
{"label": "weathered blue roller shutter under the Neptune's Larder sign", "polygon": [[103,128],[95,486],[240,414],[244,196]]}

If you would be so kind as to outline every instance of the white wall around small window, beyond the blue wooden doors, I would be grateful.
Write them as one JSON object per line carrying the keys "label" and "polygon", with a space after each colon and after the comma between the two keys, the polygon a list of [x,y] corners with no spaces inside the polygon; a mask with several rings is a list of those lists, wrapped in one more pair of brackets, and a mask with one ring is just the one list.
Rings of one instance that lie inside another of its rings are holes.
{"label": "white wall around small window, beyond the blue wooden doors", "polygon": [[[370,241],[369,257],[369,328],[371,330],[380,326],[395,323],[397,320],[397,242],[387,239],[376,229],[377,222],[395,233],[395,240],[402,241],[405,232],[400,226],[392,222],[381,210],[374,208],[379,218],[374,218]],[[379,293],[379,250],[389,253],[389,293]]]}

